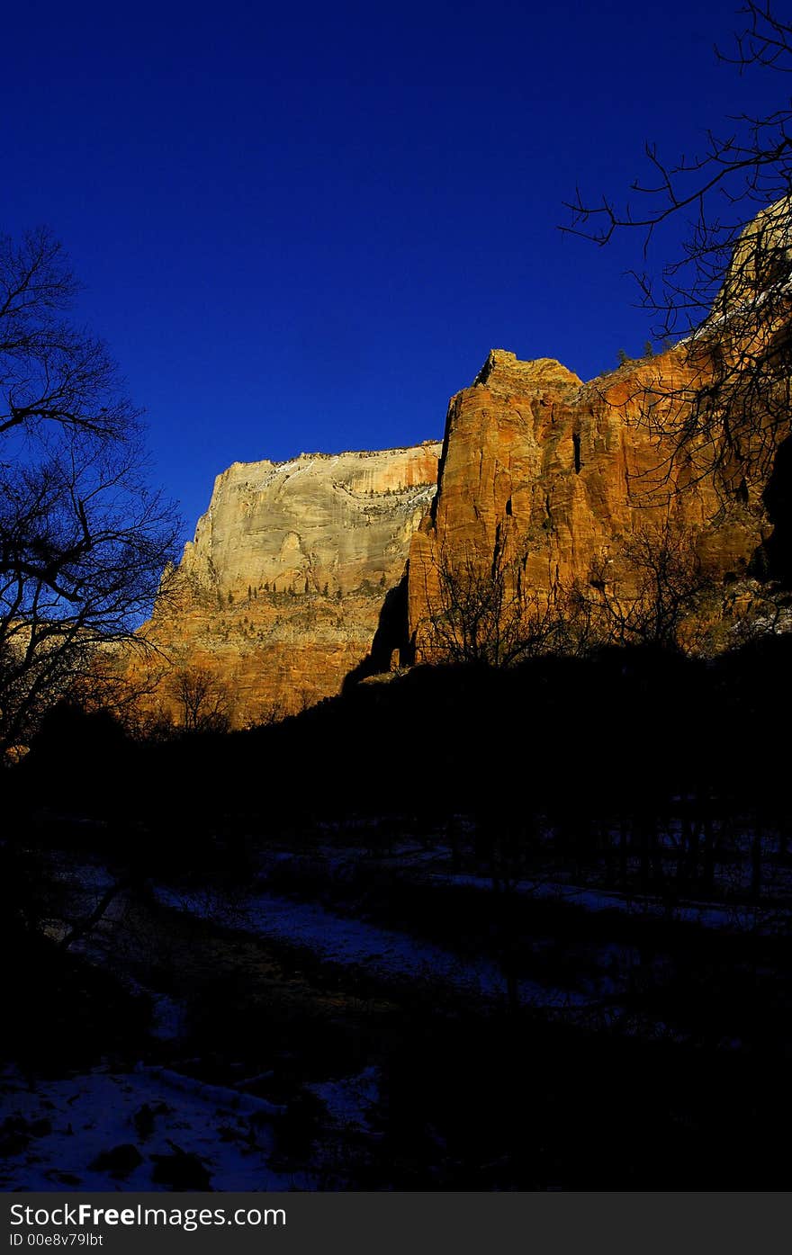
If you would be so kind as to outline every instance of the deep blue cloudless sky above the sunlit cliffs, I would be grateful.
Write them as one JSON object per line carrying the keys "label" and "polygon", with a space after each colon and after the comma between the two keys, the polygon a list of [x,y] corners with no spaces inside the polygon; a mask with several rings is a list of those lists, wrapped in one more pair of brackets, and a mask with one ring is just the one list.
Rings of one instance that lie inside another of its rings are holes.
{"label": "deep blue cloudless sky above the sunlit cliffs", "polygon": [[45,222],[186,533],[233,461],[442,435],[490,348],[640,353],[638,237],[565,237],[782,78],[737,4],[26,4],[0,24],[0,231]]}

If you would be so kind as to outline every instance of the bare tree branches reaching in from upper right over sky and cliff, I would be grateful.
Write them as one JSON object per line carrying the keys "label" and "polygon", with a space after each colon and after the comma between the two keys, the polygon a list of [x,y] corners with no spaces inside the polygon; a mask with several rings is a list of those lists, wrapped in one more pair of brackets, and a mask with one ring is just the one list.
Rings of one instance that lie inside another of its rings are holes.
{"label": "bare tree branches reaching in from upper right over sky and cliff", "polygon": [[[720,60],[739,73],[789,73],[792,24],[769,3],[749,0],[741,11],[746,25]],[[688,223],[680,254],[659,275],[635,271],[653,333],[678,340],[682,364],[673,387],[663,366],[654,376],[643,371],[644,418],[670,434],[672,457],[695,447],[699,476],[714,473],[746,501],[789,434],[792,98],[783,79],[778,85],[776,109],[729,118],[692,157],[668,161],[648,143],[648,176],[634,181],[629,198],[589,201],[579,190],[562,227],[600,245],[616,231],[638,231],[646,267],[666,223]]]}

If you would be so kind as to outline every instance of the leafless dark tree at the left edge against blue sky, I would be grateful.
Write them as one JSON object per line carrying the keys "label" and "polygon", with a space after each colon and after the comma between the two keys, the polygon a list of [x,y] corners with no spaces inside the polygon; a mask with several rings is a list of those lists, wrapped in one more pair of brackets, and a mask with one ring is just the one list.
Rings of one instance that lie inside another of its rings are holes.
{"label": "leafless dark tree at the left edge against blue sky", "polygon": [[[128,643],[173,557],[177,517],[147,482],[139,412],[45,228],[0,237],[0,752]],[[100,669],[99,669],[100,671]]]}

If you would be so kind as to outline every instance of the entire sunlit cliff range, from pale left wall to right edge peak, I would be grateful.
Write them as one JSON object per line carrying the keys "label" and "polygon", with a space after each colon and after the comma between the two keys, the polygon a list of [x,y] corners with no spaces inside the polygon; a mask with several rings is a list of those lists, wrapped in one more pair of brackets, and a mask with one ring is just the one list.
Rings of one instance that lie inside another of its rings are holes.
{"label": "entire sunlit cliff range, from pale left wall to right edge peak", "polygon": [[[367,653],[358,675],[448,656],[449,572],[486,587],[497,569],[507,597],[564,615],[582,590],[596,615],[597,599],[640,605],[668,545],[720,599],[705,614],[722,648],[762,602],[751,577],[792,577],[791,269],[784,201],[739,237],[700,329],[659,356],[584,383],[492,350],[442,447],[235,463],[146,635],[171,668],[222,681],[245,724],[338,692]],[[169,683],[153,700],[173,709]]]}

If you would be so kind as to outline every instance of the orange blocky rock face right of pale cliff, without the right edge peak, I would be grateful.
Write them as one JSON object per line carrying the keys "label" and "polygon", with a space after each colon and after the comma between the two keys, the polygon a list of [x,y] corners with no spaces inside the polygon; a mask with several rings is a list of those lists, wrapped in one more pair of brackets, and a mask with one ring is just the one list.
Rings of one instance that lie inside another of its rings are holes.
{"label": "orange blocky rock face right of pale cliff, without the right edge peak", "polygon": [[432,658],[439,572],[459,561],[486,571],[496,551],[542,595],[587,581],[626,537],[670,521],[698,537],[712,569],[744,575],[767,535],[764,478],[748,459],[738,492],[717,488],[712,449],[695,438],[672,458],[707,376],[705,354],[684,348],[587,384],[551,359],[493,350],[449,403],[438,492],[410,542],[417,658]]}

